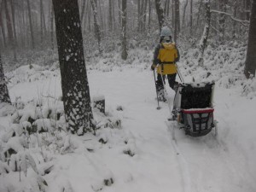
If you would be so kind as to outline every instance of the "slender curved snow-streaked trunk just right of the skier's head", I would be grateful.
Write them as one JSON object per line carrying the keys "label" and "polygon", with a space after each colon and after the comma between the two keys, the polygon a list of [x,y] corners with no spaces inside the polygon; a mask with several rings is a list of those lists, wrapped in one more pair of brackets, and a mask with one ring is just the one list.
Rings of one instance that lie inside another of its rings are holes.
{"label": "slender curved snow-streaked trunk just right of the skier's head", "polygon": [[206,6],[206,24],[204,28],[204,32],[201,36],[201,41],[199,44],[200,49],[200,55],[198,59],[198,65],[203,66],[204,65],[204,51],[207,47],[207,38],[210,32],[210,26],[211,26],[211,9],[210,9],[210,0],[205,0],[205,6]]}

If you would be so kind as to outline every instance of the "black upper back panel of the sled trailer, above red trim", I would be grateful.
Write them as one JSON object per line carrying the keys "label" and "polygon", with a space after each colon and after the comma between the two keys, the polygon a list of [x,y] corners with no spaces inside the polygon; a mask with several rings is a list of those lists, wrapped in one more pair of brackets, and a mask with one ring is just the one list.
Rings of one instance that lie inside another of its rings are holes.
{"label": "black upper back panel of the sled trailer, above red trim", "polygon": [[212,84],[196,86],[184,84],[181,90],[181,108],[211,108]]}

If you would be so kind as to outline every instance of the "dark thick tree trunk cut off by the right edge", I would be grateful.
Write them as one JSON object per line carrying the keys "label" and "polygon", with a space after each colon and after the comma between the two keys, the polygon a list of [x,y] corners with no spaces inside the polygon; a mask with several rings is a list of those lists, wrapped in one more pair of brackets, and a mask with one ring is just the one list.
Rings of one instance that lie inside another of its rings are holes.
{"label": "dark thick tree trunk cut off by the right edge", "polygon": [[255,77],[256,70],[256,0],[253,0],[250,18],[249,37],[247,44],[247,59],[245,63],[244,73],[248,78]]}

